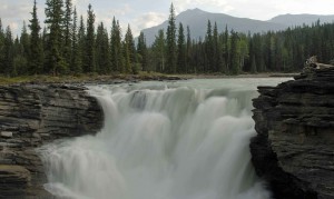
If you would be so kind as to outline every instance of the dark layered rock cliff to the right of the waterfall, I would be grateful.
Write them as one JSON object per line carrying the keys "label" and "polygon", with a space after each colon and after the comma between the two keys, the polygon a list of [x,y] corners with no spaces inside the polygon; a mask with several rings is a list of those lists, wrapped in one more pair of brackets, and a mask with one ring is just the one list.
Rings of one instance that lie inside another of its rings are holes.
{"label": "dark layered rock cliff to the right of the waterfall", "polygon": [[277,199],[334,198],[334,69],[259,87],[253,165]]}

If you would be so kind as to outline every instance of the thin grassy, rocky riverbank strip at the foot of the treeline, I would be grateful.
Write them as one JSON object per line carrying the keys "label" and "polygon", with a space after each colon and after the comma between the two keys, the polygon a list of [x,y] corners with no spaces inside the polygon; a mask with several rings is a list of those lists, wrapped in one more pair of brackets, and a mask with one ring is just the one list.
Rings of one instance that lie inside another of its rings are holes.
{"label": "thin grassy, rocky riverbank strip at the foot of the treeline", "polygon": [[163,73],[147,73],[139,74],[82,74],[82,76],[27,76],[17,78],[0,77],[0,84],[39,84],[39,83],[122,83],[137,81],[173,81],[186,79],[220,79],[220,78],[269,78],[269,77],[295,77],[297,73],[243,73],[238,76],[226,76],[220,73],[212,74],[163,74]]}

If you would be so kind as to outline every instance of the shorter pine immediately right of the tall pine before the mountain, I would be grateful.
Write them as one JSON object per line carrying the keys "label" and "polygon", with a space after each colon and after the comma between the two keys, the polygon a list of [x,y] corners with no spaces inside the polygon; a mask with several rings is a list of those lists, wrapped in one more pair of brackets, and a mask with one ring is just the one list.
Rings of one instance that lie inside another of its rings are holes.
{"label": "shorter pine immediately right of the tall pine before the mountain", "polygon": [[186,41],[185,41],[184,26],[179,23],[178,40],[177,40],[177,72],[185,73],[186,70]]}

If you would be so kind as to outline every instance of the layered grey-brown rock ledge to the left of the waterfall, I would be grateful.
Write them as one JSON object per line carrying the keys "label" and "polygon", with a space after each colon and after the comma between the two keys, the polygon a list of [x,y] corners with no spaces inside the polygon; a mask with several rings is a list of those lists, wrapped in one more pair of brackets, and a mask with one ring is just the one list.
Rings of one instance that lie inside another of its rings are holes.
{"label": "layered grey-brown rock ledge to the left of the waterfall", "polygon": [[47,198],[36,148],[60,138],[96,133],[102,110],[84,87],[0,87],[0,198]]}

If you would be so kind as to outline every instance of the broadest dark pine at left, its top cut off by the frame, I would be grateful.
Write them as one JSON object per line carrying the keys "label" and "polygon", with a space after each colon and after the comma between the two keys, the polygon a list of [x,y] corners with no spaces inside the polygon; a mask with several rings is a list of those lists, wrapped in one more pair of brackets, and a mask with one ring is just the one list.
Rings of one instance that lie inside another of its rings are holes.
{"label": "broadest dark pine at left, its top cut off by the frame", "polygon": [[63,10],[62,0],[47,0],[46,2],[46,21],[49,29],[48,44],[46,52],[47,71],[53,76],[67,70],[67,64],[62,57],[62,38],[63,38]]}

